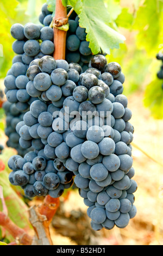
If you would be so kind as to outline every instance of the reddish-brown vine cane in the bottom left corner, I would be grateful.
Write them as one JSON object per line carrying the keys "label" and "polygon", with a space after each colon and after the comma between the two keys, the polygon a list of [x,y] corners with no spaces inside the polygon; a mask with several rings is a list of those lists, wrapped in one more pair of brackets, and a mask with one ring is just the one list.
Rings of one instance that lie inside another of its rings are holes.
{"label": "reddish-brown vine cane in the bottom left corner", "polygon": [[17,225],[10,220],[10,218],[3,212],[0,212],[0,225],[8,230],[14,239],[21,245],[31,245],[33,237],[28,235],[26,231],[17,227]]}

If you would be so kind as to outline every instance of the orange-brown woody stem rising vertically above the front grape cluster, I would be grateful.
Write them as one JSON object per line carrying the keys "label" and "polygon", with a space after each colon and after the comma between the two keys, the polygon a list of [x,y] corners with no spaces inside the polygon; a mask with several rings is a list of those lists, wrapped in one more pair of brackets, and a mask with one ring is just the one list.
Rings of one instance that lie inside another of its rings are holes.
{"label": "orange-brown woody stem rising vertically above the front grape cluster", "polygon": [[[54,24],[67,19],[67,8],[62,5],[62,0],[56,0]],[[68,19],[67,19],[68,22]],[[66,31],[54,28],[54,59],[65,59],[66,55]]]}

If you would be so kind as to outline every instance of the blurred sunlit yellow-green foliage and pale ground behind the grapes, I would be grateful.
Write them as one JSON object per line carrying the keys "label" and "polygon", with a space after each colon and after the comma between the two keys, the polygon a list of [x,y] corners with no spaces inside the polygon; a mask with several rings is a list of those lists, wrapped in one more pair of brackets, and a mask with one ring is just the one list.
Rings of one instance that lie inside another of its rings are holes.
{"label": "blurred sunlit yellow-green foliage and pale ground behind the grapes", "polygon": [[[146,8],[142,7],[144,2]],[[12,51],[14,39],[10,35],[10,27],[14,23],[24,25],[27,22],[34,22],[39,24],[38,16],[43,3],[45,3],[44,0],[0,2],[0,44],[3,45],[3,57],[0,57],[1,89],[4,89],[3,79],[11,68],[14,57]],[[133,112],[131,123],[135,127],[133,158],[136,172],[134,180],[138,184],[138,190],[135,193],[137,216],[134,220],[130,220],[128,227],[123,230],[114,228],[111,231],[99,231],[96,235],[90,232],[91,244],[163,245],[163,120],[153,118],[153,116],[163,118],[163,89],[161,89],[160,81],[156,78],[161,62],[155,58],[161,50],[160,45],[163,44],[162,3],[156,0],[106,0],[105,3],[108,10],[114,8],[112,19],[116,21],[119,31],[126,36],[125,44],[122,44],[118,50],[112,50],[111,55],[107,58],[109,62],[114,60],[120,63],[123,73],[126,75],[124,94],[128,96],[128,106]],[[153,16],[151,15],[152,10]],[[2,55],[2,48],[0,51]],[[148,84],[151,84],[152,81],[154,81],[153,92],[149,94]],[[154,107],[152,105],[151,112],[151,109],[146,108],[145,105],[150,105],[150,101],[158,99],[156,98],[158,93],[161,100],[158,105]],[[0,115],[0,141],[5,145],[7,138],[4,135],[5,117],[2,109],[0,109]],[[16,154],[15,150],[5,148],[1,159],[7,165],[9,157],[14,154]],[[5,171],[8,174],[9,169],[6,168]],[[7,175],[0,175],[1,179],[7,179]],[[16,193],[24,202],[22,191],[17,189]],[[68,195],[61,198],[61,201],[65,202],[62,206],[65,214],[64,220],[70,218],[72,210],[86,212],[87,207],[76,190],[70,191]],[[29,205],[35,203],[39,203],[39,200],[28,202]],[[58,227],[56,222],[58,220],[60,223],[59,217],[55,218],[54,216],[54,220],[54,227],[57,228],[52,227],[51,232],[55,244],[76,245],[78,240],[72,240],[72,236],[68,236],[68,232],[64,233]],[[81,231],[80,228],[78,225],[78,235]],[[8,234],[5,236],[3,231],[0,232],[0,241],[2,237],[5,237],[7,241],[10,239],[10,236]]]}

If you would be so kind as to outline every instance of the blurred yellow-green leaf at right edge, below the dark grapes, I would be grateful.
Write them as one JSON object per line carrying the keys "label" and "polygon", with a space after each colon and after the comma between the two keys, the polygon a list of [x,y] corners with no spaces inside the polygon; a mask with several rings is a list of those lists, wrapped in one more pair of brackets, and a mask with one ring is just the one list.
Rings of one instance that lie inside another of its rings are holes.
{"label": "blurred yellow-green leaf at right edge, below the dark grapes", "polygon": [[144,97],[145,107],[151,110],[151,114],[155,119],[163,118],[163,90],[162,80],[153,80],[145,90]]}

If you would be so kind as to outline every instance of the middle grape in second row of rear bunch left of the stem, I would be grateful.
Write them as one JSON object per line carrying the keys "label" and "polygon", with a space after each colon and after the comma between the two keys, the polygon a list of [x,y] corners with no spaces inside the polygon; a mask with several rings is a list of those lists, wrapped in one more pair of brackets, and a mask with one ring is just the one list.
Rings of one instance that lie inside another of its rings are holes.
{"label": "middle grape in second row of rear bunch left of the stem", "polygon": [[25,42],[23,50],[28,56],[34,57],[40,52],[40,44],[36,40],[28,40]]}

